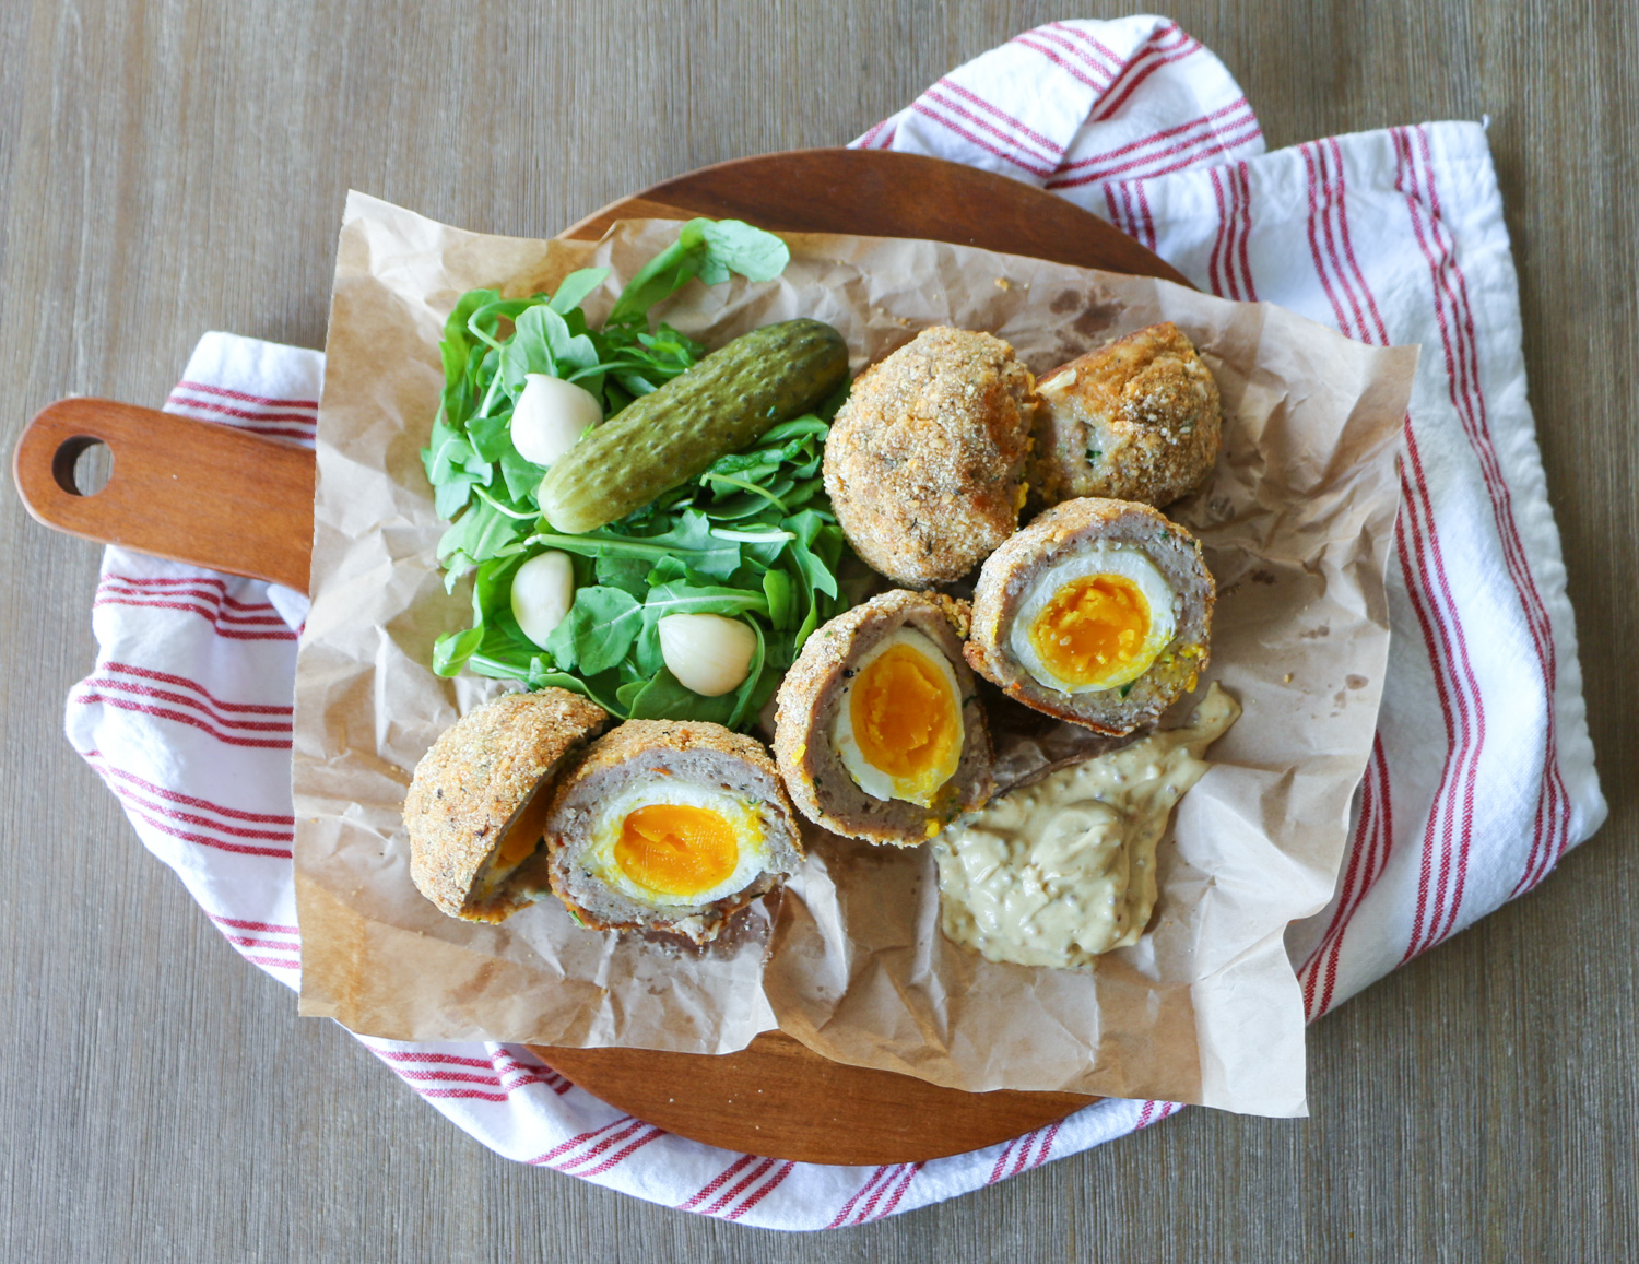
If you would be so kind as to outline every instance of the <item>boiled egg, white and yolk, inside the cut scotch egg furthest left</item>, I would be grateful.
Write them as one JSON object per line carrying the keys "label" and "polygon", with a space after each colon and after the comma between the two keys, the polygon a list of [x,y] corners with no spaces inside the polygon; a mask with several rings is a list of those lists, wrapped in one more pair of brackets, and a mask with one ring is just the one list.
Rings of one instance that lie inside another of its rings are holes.
{"label": "boiled egg, white and yolk, inside the cut scotch egg furthest left", "polygon": [[575,862],[657,910],[721,900],[774,867],[757,803],[677,777],[638,779],[606,798]]}

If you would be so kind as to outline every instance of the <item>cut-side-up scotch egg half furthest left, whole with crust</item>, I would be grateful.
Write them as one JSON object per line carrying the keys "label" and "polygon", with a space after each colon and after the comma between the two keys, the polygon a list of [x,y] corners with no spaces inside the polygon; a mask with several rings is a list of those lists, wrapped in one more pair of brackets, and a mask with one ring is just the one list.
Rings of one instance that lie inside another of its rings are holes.
{"label": "cut-side-up scotch egg half furthest left, whole with crust", "polygon": [[695,943],[801,864],[767,751],[703,721],[628,720],[595,741],[559,784],[546,838],[552,890],[582,925]]}

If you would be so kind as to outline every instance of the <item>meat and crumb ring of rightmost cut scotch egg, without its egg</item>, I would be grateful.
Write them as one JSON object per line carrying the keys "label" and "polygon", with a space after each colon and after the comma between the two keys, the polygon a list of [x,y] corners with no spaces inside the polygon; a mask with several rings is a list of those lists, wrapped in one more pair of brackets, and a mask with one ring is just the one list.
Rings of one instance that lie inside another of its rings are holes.
{"label": "meat and crumb ring of rightmost cut scotch egg, without its egg", "polygon": [[[1031,577],[1064,551],[1095,538],[1144,548],[1182,595],[1174,639],[1128,692],[1062,693],[1036,680],[1008,648],[1013,615]],[[962,652],[974,671],[1008,697],[1095,733],[1121,736],[1155,718],[1195,687],[1211,661],[1216,585],[1201,546],[1159,510],[1129,500],[1083,497],[1037,516],[985,561],[974,589],[974,626]]]}

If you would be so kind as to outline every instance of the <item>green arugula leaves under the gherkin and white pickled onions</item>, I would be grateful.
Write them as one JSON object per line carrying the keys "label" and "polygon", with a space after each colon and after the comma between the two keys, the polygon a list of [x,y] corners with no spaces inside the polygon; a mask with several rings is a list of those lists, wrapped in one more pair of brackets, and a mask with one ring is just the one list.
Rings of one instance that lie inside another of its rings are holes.
{"label": "green arugula leaves under the gherkin and white pickled onions", "polygon": [[[738,221],[693,220],[621,290],[602,328],[580,303],[608,269],[572,272],[552,295],[461,297],[441,344],[444,392],[421,452],[434,503],[452,521],[438,546],[446,587],[472,582],[472,626],[441,636],[433,667],[557,685],[618,718],[713,720],[746,728],[808,634],[852,605],[838,580],[847,544],[824,495],[821,459],[846,385],[815,413],[783,421],[705,474],[608,526],[562,534],[541,516],[546,474],[518,454],[510,421],[528,374],[588,390],[605,420],[705,356],[649,310],[690,280],[777,277],[785,243]],[[531,641],[513,615],[511,580],[546,551],[569,554],[574,602]],[[667,669],[659,621],[723,615],[749,625],[756,652],[744,682],[703,697]]]}

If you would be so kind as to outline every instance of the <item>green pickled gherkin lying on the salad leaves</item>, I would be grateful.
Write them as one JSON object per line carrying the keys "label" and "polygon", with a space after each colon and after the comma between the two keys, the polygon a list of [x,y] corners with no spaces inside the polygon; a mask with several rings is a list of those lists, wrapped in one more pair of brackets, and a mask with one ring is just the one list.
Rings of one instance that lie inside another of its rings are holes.
{"label": "green pickled gherkin lying on the salad leaves", "polygon": [[823,321],[741,334],[580,439],[541,480],[541,512],[565,534],[624,518],[811,411],[846,377],[847,344]]}

